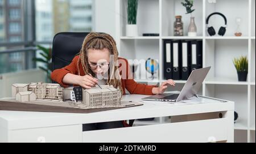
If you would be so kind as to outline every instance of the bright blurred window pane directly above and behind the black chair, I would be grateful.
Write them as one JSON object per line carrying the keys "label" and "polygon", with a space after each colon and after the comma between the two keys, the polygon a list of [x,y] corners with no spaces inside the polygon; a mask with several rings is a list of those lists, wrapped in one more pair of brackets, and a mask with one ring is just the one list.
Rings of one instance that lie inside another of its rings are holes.
{"label": "bright blurred window pane directly above and behind the black chair", "polygon": [[59,32],[90,32],[93,0],[36,0],[36,40],[52,41]]}

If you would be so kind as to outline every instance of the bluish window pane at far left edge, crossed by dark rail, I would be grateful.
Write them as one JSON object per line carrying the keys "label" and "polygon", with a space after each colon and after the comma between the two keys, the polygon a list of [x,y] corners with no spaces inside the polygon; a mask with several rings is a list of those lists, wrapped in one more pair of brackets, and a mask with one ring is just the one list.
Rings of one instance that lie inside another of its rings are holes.
{"label": "bluish window pane at far left edge, crossed by dark rail", "polygon": [[[2,43],[24,41],[24,0],[0,0],[0,41]],[[4,6],[4,5],[7,5]],[[2,7],[4,6],[4,7]],[[1,46],[0,52],[5,50],[24,49],[24,45]],[[0,53],[0,74],[5,72],[28,69],[26,65],[26,52]]]}

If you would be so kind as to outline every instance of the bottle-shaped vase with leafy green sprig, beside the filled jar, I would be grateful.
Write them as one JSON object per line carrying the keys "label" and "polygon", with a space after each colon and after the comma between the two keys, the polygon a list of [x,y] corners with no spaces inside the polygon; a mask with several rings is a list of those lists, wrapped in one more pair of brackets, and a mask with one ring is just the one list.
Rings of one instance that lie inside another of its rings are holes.
{"label": "bottle-shaped vase with leafy green sprig, beside the filled jar", "polygon": [[183,5],[186,8],[186,14],[191,14],[190,23],[188,26],[188,36],[190,37],[197,36],[195,17],[192,16],[192,12],[195,11],[195,9],[192,9],[193,3],[194,0],[184,0],[184,2],[181,2],[181,5]]}

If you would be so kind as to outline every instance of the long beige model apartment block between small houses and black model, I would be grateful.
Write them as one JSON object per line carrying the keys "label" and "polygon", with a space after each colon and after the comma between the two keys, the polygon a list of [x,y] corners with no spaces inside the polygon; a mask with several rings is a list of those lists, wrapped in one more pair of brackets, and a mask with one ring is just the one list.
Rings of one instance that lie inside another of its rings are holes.
{"label": "long beige model apartment block between small houses and black model", "polygon": [[36,94],[37,99],[63,100],[64,89],[59,84],[52,83],[31,83],[28,91]]}

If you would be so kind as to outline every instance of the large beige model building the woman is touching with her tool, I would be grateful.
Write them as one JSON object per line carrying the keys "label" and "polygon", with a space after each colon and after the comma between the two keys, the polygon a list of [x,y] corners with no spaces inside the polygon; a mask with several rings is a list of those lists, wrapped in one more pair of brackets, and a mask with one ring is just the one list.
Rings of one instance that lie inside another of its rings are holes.
{"label": "large beige model building the woman is touching with her tool", "polygon": [[103,85],[84,89],[82,103],[86,106],[117,106],[121,105],[121,91],[113,86]]}

